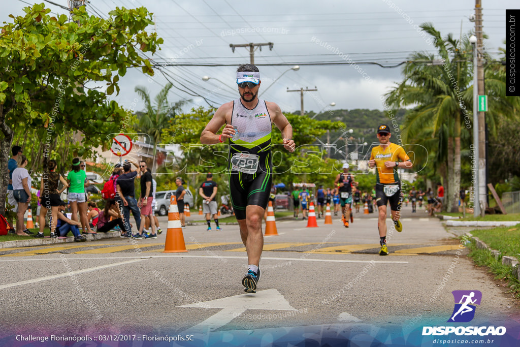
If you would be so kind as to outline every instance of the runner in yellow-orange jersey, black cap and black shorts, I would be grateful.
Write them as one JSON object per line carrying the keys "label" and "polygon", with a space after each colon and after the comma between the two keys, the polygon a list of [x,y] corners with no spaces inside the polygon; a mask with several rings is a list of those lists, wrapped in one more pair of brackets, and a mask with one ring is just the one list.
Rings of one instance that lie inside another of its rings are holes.
{"label": "runner in yellow-orange jersey, black cap and black shorts", "polygon": [[387,255],[388,247],[386,246],[386,204],[390,202],[390,211],[395,229],[402,231],[402,224],[399,221],[401,211],[401,183],[397,168],[410,169],[412,162],[405,150],[390,142],[390,128],[386,124],[378,127],[378,139],[380,145],[372,148],[370,161],[371,168],[376,168],[377,183],[375,185],[375,198],[379,210],[379,237],[381,250],[379,255]]}

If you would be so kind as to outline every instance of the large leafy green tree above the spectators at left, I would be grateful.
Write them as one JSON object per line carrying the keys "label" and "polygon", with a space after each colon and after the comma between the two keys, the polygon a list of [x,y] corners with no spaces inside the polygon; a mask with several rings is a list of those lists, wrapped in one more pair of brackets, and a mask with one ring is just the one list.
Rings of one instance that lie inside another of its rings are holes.
{"label": "large leafy green tree above the spectators at left", "polygon": [[[162,39],[148,34],[151,15],[144,7],[117,8],[109,19],[89,16],[84,7],[51,17],[44,4],[24,8],[0,33],[0,162],[6,163],[12,139],[22,129],[37,129],[36,143],[53,150],[58,134],[75,131],[81,144],[71,153],[84,156],[107,136],[126,126],[127,113],[107,94],[119,93],[127,68],[153,75],[150,61],[138,51],[155,52]],[[99,84],[106,84],[106,91]],[[7,168],[0,168],[0,201],[5,199]],[[3,204],[0,207],[3,212]]]}

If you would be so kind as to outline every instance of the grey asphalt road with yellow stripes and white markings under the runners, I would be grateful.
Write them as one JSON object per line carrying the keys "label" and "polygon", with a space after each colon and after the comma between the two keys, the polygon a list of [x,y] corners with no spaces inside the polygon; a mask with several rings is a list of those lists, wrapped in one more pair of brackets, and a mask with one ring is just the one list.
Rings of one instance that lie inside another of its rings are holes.
{"label": "grey asphalt road with yellow stripes and white markings under the runners", "polygon": [[187,253],[162,253],[166,233],[136,245],[109,239],[2,249],[2,325],[6,331],[78,334],[413,327],[418,320],[446,322],[451,291],[471,289],[483,293],[476,324],[519,316],[511,295],[475,268],[439,220],[412,214],[409,205],[402,221],[402,233],[389,233],[388,256],[378,255],[375,214],[355,214],[350,228],[337,217],[332,225],[318,220],[317,228],[278,221],[279,235],[265,238],[255,295],[244,294],[240,283],[246,254],[237,225],[220,232],[188,226]]}

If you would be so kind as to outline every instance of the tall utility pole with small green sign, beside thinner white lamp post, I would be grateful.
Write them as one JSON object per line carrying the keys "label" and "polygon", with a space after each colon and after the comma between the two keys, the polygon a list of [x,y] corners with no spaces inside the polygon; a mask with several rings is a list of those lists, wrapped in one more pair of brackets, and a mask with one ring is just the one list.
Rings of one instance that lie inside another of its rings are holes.
{"label": "tall utility pole with small green sign, beside thinner white lamp post", "polygon": [[[478,95],[484,95],[484,45],[483,45],[483,32],[484,25],[482,24],[482,0],[475,0],[475,36],[477,37],[476,50],[477,50],[477,90]],[[478,108],[474,110],[478,112]],[[485,112],[478,112],[478,197],[482,210],[481,215],[484,215],[487,207],[487,177],[486,177],[486,114]]]}

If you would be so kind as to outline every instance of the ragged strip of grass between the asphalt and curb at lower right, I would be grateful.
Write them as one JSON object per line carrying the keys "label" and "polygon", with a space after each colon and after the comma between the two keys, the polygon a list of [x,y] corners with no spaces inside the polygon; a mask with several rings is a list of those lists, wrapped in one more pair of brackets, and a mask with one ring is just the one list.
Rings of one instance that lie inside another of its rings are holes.
{"label": "ragged strip of grass between the asphalt and curb at lower right", "polygon": [[[478,230],[484,231],[484,230]],[[487,231],[487,230],[486,230]],[[475,235],[474,232],[472,232]],[[475,235],[476,236],[476,235]],[[478,237],[478,236],[477,236]],[[480,237],[478,237],[480,239]],[[481,239],[482,240],[482,239]],[[483,240],[484,241],[484,240]],[[488,246],[489,243],[486,242]],[[486,267],[489,273],[495,275],[495,279],[502,282],[502,285],[509,286],[512,293],[514,293],[515,298],[520,299],[520,282],[516,277],[512,274],[512,267],[508,265],[502,264],[502,258],[495,259],[495,256],[487,249],[478,249],[476,247],[476,243],[474,240],[471,240],[469,244],[467,244],[470,249],[470,253],[468,254],[473,262],[480,267]],[[491,246],[490,246],[491,247]],[[493,248],[497,249],[497,248]],[[501,249],[497,249],[498,251],[502,251]]]}

